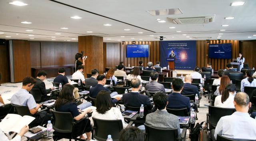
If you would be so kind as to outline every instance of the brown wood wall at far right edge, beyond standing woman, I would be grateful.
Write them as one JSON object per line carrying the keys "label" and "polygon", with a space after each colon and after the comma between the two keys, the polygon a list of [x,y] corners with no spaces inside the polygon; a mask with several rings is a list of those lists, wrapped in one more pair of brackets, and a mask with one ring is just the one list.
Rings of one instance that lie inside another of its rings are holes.
{"label": "brown wood wall at far right edge, beyond standing woman", "polygon": [[240,41],[240,52],[250,68],[256,68],[256,40]]}

